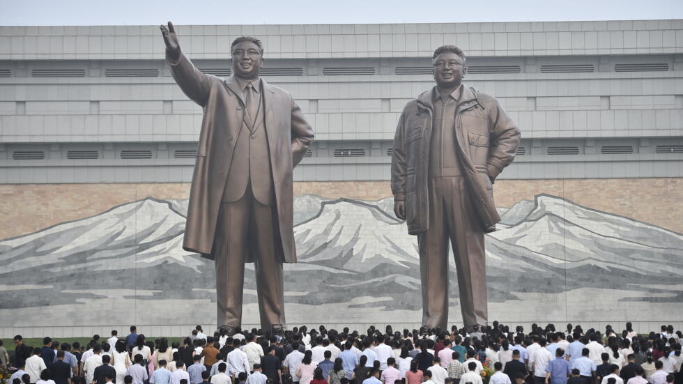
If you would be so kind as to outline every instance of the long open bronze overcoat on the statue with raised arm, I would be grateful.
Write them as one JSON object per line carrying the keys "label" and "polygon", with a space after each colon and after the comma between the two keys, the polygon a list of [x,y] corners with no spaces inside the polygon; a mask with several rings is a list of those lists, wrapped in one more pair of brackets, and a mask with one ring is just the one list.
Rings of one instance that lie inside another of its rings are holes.
{"label": "long open bronze overcoat on the statue with raised arm", "polygon": [[[222,79],[194,68],[181,52],[177,61],[167,55],[171,74],[185,95],[204,108],[197,161],[192,175],[183,249],[213,259],[211,250],[218,210],[228,177],[238,132],[245,121],[245,100],[234,76]],[[314,135],[291,93],[263,81],[268,151],[275,185],[279,240],[286,263],[296,262],[294,249],[293,169]],[[247,251],[248,252],[248,251]],[[252,256],[247,254],[247,261]]]}

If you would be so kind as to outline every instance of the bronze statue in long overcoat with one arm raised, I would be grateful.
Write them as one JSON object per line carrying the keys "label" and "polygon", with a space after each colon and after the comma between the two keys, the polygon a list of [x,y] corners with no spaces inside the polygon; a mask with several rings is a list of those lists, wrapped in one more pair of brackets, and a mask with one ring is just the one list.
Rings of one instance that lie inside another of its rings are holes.
{"label": "bronze statue in long overcoat with one arm raised", "polygon": [[219,327],[232,334],[241,325],[249,262],[261,328],[285,325],[282,263],[296,262],[292,170],[313,141],[311,126],[291,93],[259,77],[259,39],[233,41],[233,75],[222,79],[194,68],[171,22],[161,31],[174,79],[204,108],[183,248],[215,260]]}

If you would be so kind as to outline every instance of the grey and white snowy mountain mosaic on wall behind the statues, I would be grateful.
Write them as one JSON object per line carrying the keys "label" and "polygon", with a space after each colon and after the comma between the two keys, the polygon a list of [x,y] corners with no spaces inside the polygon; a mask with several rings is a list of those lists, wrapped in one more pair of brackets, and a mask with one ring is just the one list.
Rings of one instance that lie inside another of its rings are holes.
{"label": "grey and white snowy mountain mosaic on wall behind the statues", "polygon": [[[417,241],[392,199],[295,199],[291,323],[420,321]],[[187,200],[132,201],[0,241],[3,326],[215,323],[213,261],[182,247]],[[683,315],[683,236],[539,194],[486,236],[491,320],[658,321]],[[245,323],[258,309],[251,264]],[[459,321],[451,263],[451,321]]]}

